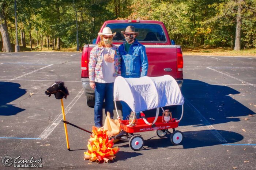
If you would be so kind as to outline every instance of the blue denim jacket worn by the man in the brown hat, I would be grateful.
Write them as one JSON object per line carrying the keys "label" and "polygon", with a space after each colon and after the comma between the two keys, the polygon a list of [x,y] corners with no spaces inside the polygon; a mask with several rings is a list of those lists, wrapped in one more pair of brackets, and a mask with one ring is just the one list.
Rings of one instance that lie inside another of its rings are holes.
{"label": "blue denim jacket worn by the man in the brown hat", "polygon": [[[124,42],[118,48],[121,56],[121,76],[124,78],[139,78],[147,75],[148,61],[146,47],[135,39],[127,53]],[[141,69],[141,72],[140,72]]]}

